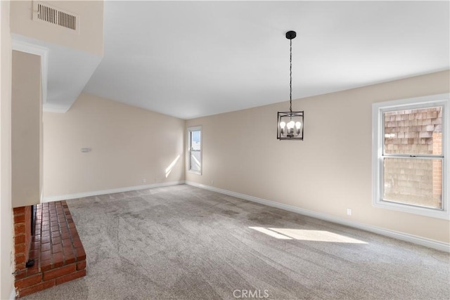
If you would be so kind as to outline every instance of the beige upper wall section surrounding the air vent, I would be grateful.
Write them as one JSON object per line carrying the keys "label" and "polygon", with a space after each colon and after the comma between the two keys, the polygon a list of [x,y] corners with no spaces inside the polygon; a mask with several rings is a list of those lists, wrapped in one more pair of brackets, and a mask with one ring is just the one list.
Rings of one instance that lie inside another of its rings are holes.
{"label": "beige upper wall section surrounding the air vent", "polygon": [[11,2],[11,32],[103,56],[103,1],[42,1],[79,15],[79,34],[32,20],[32,1]]}

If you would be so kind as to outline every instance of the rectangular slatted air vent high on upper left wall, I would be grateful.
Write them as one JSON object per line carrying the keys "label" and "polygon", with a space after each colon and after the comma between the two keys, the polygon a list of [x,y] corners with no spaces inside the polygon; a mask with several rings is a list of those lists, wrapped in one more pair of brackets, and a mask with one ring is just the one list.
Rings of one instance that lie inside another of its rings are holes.
{"label": "rectangular slatted air vent high on upper left wall", "polygon": [[65,27],[72,32],[79,32],[78,15],[41,1],[33,1],[33,20]]}

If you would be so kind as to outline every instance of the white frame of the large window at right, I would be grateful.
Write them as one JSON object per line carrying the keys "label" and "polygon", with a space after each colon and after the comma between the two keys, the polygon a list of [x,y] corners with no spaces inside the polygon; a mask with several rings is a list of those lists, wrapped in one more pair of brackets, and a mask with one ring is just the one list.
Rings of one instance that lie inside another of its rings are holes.
{"label": "white frame of the large window at right", "polygon": [[[373,206],[384,209],[403,211],[410,214],[430,216],[437,219],[450,219],[449,214],[449,107],[450,94],[408,98],[372,104],[372,170],[373,170]],[[387,202],[383,200],[383,145],[384,123],[383,113],[396,110],[411,110],[424,107],[442,106],[442,209],[418,207],[410,204]]]}

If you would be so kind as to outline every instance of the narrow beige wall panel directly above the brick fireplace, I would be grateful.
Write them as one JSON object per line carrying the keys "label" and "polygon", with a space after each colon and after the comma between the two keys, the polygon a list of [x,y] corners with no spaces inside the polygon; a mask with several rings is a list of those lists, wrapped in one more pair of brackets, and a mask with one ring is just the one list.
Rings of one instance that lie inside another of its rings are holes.
{"label": "narrow beige wall panel directly above the brick fireplace", "polygon": [[11,147],[13,207],[41,201],[41,57],[13,51]]}

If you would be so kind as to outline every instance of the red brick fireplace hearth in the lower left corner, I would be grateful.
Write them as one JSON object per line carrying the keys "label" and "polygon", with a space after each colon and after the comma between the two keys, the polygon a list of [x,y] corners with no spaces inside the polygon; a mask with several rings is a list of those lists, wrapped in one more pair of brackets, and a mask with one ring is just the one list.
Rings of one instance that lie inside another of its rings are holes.
{"label": "red brick fireplace hearth in the lower left corner", "polygon": [[[59,201],[36,207],[31,238],[27,234],[31,233],[31,208],[18,207],[13,211],[17,297],[86,275],[86,253],[68,204]],[[25,263],[29,260],[34,260],[34,265],[27,268]]]}

